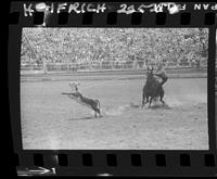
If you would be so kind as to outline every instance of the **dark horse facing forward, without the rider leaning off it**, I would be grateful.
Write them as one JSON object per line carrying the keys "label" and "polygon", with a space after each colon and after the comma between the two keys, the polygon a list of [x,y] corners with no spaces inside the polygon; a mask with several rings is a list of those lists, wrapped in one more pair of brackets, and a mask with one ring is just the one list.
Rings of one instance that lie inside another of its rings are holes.
{"label": "dark horse facing forward, without the rider leaning off it", "polygon": [[[164,104],[164,89],[161,82],[154,77],[153,68],[148,68],[146,74],[146,84],[143,87],[142,93],[142,107],[149,102],[149,106],[151,106],[152,100],[159,97],[161,102]],[[144,100],[146,101],[144,102]]]}

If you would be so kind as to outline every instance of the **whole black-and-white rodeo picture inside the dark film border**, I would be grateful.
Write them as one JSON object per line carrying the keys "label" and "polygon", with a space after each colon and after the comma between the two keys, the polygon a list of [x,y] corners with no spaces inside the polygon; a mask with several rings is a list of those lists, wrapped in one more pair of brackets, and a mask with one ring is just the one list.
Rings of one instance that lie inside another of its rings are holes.
{"label": "whole black-and-white rodeo picture inside the dark film border", "polygon": [[208,29],[23,28],[25,150],[208,150]]}

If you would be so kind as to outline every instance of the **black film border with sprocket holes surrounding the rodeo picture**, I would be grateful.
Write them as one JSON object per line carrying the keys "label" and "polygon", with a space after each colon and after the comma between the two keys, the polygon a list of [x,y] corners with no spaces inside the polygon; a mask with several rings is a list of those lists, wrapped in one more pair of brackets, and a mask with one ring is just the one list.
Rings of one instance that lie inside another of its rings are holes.
{"label": "black film border with sprocket holes surrounding the rodeo picture", "polygon": [[[188,3],[193,4],[193,3]],[[38,151],[23,150],[20,112],[20,52],[22,27],[35,27],[42,22],[42,13],[23,16],[21,3],[11,5],[9,16],[9,94],[15,166],[55,167],[58,175],[200,175],[216,174],[215,136],[215,50],[216,14],[214,12],[187,11],[168,13],[117,14],[53,14],[48,27],[206,27],[208,41],[208,151]],[[111,17],[110,17],[111,16]],[[108,18],[107,18],[108,17]],[[66,20],[67,18],[67,20]],[[13,72],[13,73],[12,73]],[[13,119],[13,120],[12,120]],[[85,172],[84,174],[84,168]],[[145,169],[146,168],[146,169]],[[179,171],[177,170],[179,169]],[[51,169],[50,169],[51,170]]]}

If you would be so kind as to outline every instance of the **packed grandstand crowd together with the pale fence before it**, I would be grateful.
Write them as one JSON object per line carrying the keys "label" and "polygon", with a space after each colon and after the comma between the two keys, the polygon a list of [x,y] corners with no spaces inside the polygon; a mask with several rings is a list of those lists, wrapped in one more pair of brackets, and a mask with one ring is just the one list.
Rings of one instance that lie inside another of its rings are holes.
{"label": "packed grandstand crowd together with the pale fence before it", "polygon": [[23,68],[206,67],[205,28],[24,28]]}

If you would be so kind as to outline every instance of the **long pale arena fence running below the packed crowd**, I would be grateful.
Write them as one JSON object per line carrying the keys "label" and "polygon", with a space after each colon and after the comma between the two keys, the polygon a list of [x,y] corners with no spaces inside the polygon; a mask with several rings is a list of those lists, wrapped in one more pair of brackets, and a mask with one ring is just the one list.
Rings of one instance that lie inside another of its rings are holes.
{"label": "long pale arena fence running below the packed crowd", "polygon": [[[144,65],[133,62],[118,62],[111,61],[95,62],[95,63],[44,63],[44,64],[21,64],[21,74],[47,74],[47,73],[73,73],[73,72],[97,72],[97,71],[130,71],[130,69],[145,69],[148,66],[155,67],[155,64]],[[204,68],[207,64],[192,64],[192,63],[169,63],[164,64],[165,68]]]}

